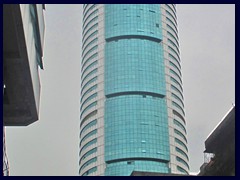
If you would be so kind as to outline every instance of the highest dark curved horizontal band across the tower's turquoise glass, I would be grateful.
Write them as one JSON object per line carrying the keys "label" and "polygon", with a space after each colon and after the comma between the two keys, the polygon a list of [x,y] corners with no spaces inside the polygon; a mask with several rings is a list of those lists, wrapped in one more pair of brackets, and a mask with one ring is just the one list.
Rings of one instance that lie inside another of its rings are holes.
{"label": "highest dark curved horizontal band across the tower's turquoise glass", "polygon": [[114,37],[110,37],[110,38],[106,38],[107,42],[111,42],[111,41],[118,41],[121,39],[146,39],[149,41],[154,41],[157,43],[160,43],[162,41],[162,39],[160,38],[156,38],[156,37],[152,37],[152,36],[144,36],[144,35],[122,35],[122,36],[114,36]]}

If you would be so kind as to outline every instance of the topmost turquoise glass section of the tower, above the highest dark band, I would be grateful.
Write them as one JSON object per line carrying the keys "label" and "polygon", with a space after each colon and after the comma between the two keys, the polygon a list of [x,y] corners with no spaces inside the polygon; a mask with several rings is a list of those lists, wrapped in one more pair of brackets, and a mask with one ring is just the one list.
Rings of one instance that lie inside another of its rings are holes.
{"label": "topmost turquoise glass section of the tower, above the highest dark band", "polygon": [[124,35],[141,35],[161,40],[161,13],[159,4],[105,5],[106,40]]}

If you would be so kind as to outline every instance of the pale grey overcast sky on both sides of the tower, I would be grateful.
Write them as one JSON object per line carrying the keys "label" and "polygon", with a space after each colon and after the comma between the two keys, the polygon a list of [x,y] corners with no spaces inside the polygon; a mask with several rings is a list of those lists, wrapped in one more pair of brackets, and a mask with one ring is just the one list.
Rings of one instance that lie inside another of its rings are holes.
{"label": "pale grey overcast sky on both sides of the tower", "polygon": [[[6,127],[12,176],[77,176],[81,5],[46,5],[39,121]],[[235,5],[177,5],[190,172],[235,103]]]}

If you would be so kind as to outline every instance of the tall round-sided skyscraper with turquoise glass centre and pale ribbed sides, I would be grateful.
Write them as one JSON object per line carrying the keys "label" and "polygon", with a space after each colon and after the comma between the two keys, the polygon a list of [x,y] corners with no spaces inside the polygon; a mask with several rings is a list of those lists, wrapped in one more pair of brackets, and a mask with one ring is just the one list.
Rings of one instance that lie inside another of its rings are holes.
{"label": "tall round-sided skyscraper with turquoise glass centre and pale ribbed sides", "polygon": [[174,4],[84,4],[80,175],[188,174]]}

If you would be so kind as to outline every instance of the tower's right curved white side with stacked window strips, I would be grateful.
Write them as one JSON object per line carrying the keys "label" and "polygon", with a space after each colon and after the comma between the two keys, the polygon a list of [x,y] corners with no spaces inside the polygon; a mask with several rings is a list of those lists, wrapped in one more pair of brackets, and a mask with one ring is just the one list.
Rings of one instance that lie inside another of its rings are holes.
{"label": "tower's right curved white side with stacked window strips", "polygon": [[166,99],[170,142],[170,168],[174,174],[189,173],[181,60],[175,4],[161,4]]}

